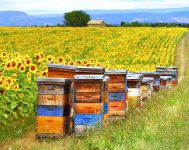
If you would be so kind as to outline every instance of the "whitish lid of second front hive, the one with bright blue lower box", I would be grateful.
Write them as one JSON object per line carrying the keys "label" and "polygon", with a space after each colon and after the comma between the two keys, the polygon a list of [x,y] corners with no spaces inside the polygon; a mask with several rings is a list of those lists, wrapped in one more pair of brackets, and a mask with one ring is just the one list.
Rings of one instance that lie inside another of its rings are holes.
{"label": "whitish lid of second front hive, the one with bright blue lower box", "polygon": [[75,80],[103,80],[104,75],[75,75]]}

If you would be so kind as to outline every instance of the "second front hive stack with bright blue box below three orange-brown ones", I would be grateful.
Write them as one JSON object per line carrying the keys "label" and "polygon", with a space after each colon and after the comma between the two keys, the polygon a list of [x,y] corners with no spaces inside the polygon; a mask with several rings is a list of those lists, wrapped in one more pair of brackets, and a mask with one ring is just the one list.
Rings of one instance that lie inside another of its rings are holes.
{"label": "second front hive stack with bright blue box below three orange-brown ones", "polygon": [[76,75],[74,77],[75,132],[103,124],[104,75]]}

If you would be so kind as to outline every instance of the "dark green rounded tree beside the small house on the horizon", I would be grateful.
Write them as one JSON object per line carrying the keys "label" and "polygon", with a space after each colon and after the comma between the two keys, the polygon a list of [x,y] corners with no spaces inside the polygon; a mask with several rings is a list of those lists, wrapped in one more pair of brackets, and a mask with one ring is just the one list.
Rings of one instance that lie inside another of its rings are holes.
{"label": "dark green rounded tree beside the small house on the horizon", "polygon": [[65,26],[84,27],[91,20],[90,16],[82,10],[65,13]]}

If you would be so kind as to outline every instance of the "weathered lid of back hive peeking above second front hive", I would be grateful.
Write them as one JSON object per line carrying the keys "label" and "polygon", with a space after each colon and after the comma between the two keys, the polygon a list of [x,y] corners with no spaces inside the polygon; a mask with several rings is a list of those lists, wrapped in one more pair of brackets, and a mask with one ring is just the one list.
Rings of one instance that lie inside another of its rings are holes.
{"label": "weathered lid of back hive peeking above second front hive", "polygon": [[93,72],[93,73],[104,73],[103,67],[86,67],[86,66],[77,66],[76,72]]}

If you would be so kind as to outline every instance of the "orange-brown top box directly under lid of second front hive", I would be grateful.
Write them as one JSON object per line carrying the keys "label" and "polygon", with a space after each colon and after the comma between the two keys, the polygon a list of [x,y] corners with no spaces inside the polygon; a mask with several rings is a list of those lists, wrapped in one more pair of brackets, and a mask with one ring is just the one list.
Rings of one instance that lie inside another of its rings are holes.
{"label": "orange-brown top box directly under lid of second front hive", "polygon": [[90,82],[76,82],[75,91],[76,92],[101,92],[102,83],[90,83]]}

